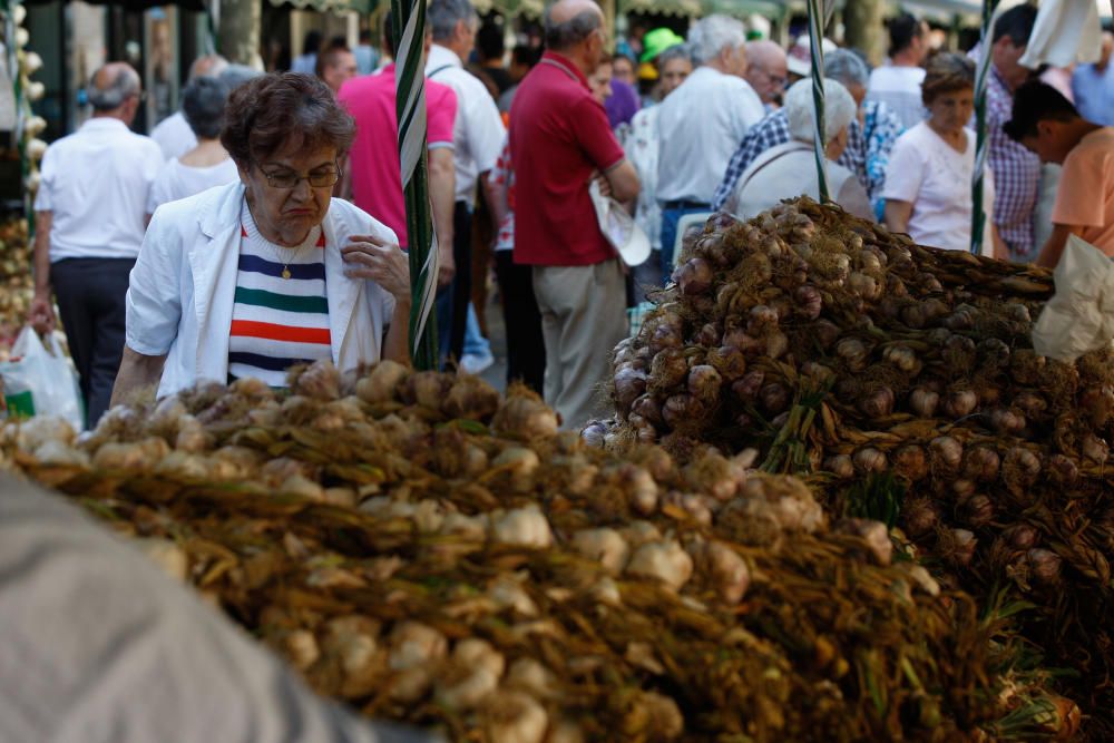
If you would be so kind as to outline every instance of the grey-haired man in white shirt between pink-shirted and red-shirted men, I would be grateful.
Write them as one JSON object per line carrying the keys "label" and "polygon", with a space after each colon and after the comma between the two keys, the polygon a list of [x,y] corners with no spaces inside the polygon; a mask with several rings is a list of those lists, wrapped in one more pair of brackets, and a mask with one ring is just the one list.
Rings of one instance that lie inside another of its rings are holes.
{"label": "grey-haired man in white shirt between pink-shirted and red-shirted men", "polygon": [[[449,86],[457,94],[457,118],[452,129],[452,160],[457,174],[452,254],[457,273],[451,290],[439,300],[438,329],[443,333],[442,341],[448,341],[448,344],[442,342],[441,348],[448,349],[463,363],[465,331],[472,295],[471,241],[476,187],[479,185],[483,189],[488,204],[495,202],[488,173],[502,151],[506,129],[499,108],[487,88],[463,67],[476,47],[476,32],[480,25],[476,9],[468,0],[432,0],[428,12],[433,46],[426,61],[426,77]],[[499,231],[499,216],[491,213],[496,233]],[[471,312],[475,313],[475,310]],[[482,341],[478,345],[482,348]],[[490,352],[483,361],[490,365]],[[478,372],[480,366],[483,366],[482,362],[469,365],[468,370]]]}

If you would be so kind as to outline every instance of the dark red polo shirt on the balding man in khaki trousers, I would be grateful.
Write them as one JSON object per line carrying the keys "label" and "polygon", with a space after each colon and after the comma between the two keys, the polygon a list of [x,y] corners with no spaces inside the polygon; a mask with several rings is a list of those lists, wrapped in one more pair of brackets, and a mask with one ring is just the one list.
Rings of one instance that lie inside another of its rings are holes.
{"label": "dark red polo shirt on the balding man in khaki trousers", "polygon": [[515,94],[515,263],[586,266],[615,257],[588,195],[588,182],[626,157],[588,79],[547,51]]}

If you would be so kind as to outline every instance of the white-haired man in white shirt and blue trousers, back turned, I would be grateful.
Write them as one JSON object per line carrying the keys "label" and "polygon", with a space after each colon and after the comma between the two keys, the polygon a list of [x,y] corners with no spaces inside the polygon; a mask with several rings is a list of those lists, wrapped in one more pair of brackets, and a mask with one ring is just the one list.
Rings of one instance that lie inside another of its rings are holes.
{"label": "white-haired man in white shirt and blue trousers, back turned", "polygon": [[700,67],[661,104],[662,150],[657,201],[662,204],[662,271],[668,275],[677,222],[710,212],[731,154],[765,109],[746,75],[746,32],[726,16],[701,19],[688,32]]}

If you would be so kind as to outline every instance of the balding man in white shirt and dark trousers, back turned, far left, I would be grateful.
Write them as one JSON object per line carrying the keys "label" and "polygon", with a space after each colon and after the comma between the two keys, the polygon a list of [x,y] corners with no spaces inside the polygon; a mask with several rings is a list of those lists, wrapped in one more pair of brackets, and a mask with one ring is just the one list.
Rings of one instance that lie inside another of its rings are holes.
{"label": "balding man in white shirt and dark trousers, back turned, far left", "polygon": [[139,75],[127,63],[97,70],[89,81],[92,118],[47,149],[35,199],[30,321],[39,332],[52,331],[57,299],[90,426],[111,397],[128,274],[163,167],[158,145],[128,128],[141,100]]}

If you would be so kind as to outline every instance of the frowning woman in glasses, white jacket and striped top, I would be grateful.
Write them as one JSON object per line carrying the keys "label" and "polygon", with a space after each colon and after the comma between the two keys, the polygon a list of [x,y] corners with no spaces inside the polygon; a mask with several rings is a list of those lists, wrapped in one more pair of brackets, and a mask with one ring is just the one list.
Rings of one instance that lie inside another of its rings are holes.
{"label": "frowning woman in glasses, white jacket and striped top", "polygon": [[240,180],[160,206],[131,272],[114,404],[203,380],[285,384],[291,365],[408,361],[410,272],[391,229],[332,198],[355,133],[309,75],[228,99],[221,141]]}

